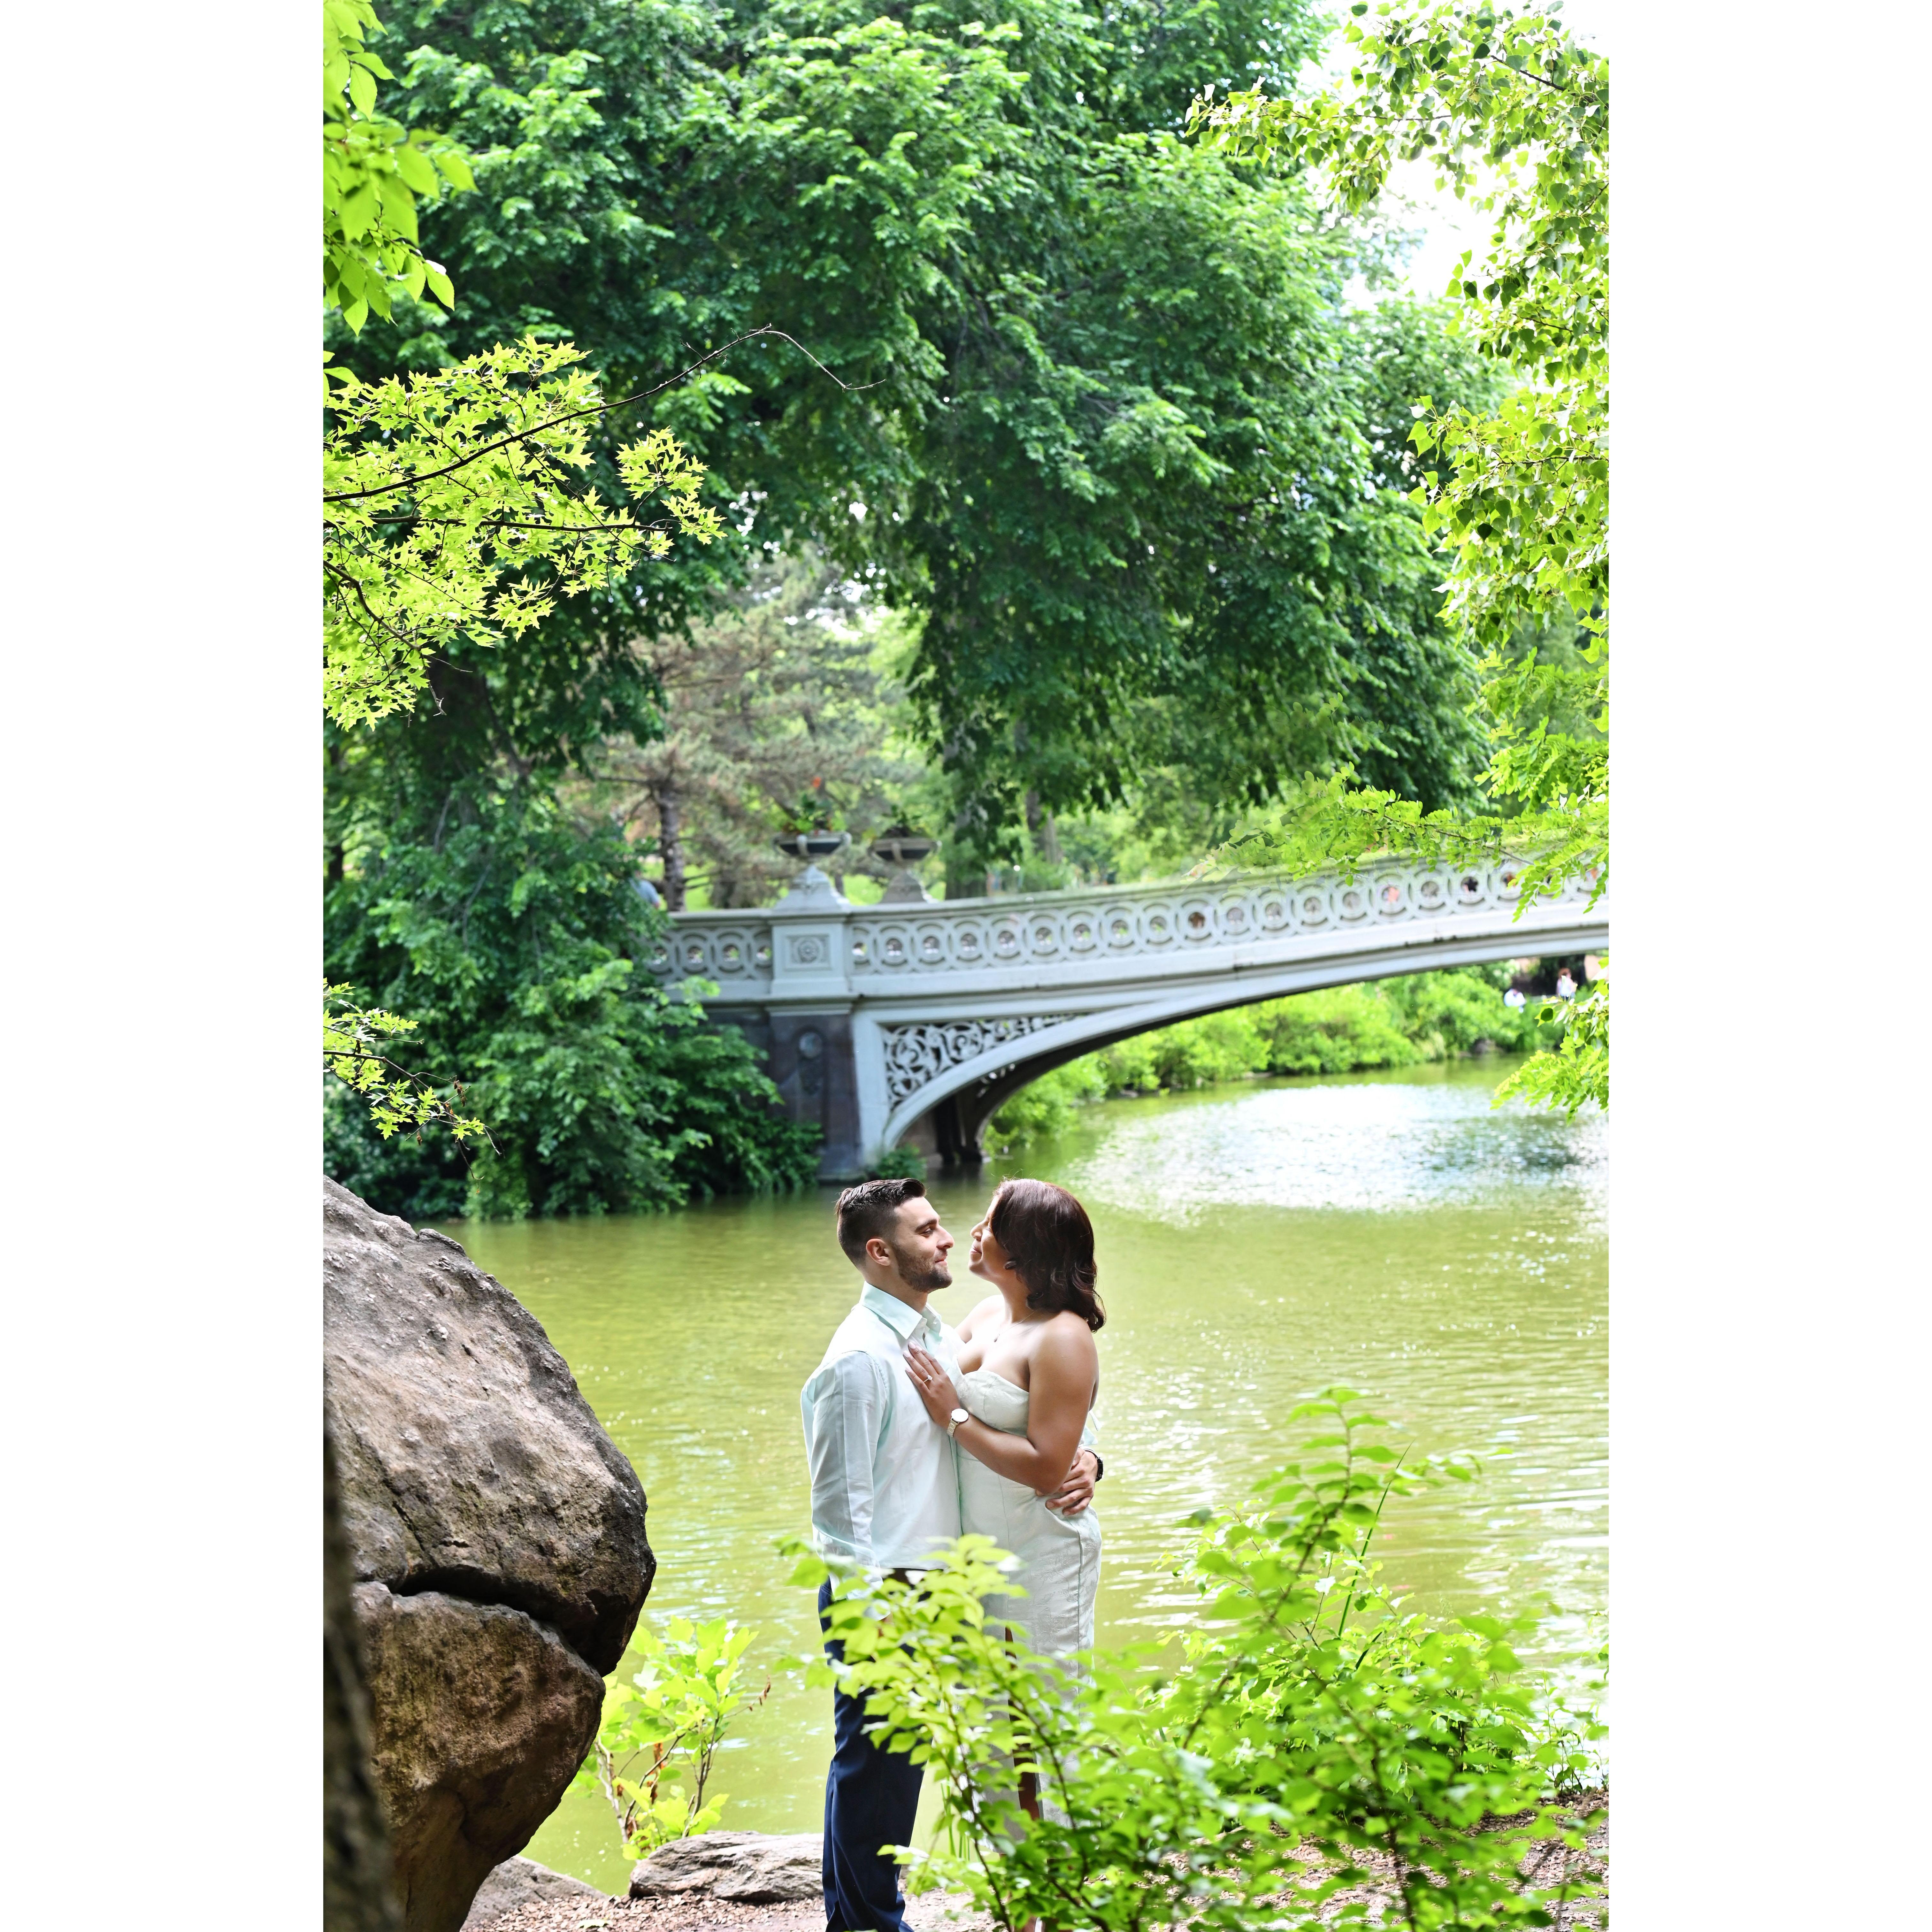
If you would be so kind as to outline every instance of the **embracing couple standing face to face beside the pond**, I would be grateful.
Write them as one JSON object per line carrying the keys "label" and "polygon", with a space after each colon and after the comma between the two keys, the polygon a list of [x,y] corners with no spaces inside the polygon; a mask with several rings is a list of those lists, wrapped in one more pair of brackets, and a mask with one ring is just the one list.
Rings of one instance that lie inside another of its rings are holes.
{"label": "embracing couple standing face to face beside the pond", "polygon": [[[1094,1644],[1101,1476],[1094,1225],[1065,1188],[1007,1180],[970,1235],[987,1294],[956,1329],[927,1308],[952,1285],[952,1236],[920,1180],[867,1180],[838,1196],[838,1246],[866,1285],[800,1406],[811,1528],[838,1569],[931,1569],[962,1534],[1014,1555],[1026,1596],[985,1600],[989,1625],[1039,1656]],[[819,1592],[819,1611],[831,1584]],[[898,1866],[920,1766],[879,1750],[864,1702],[833,1692],[825,1776],[829,1932],[902,1932]]]}

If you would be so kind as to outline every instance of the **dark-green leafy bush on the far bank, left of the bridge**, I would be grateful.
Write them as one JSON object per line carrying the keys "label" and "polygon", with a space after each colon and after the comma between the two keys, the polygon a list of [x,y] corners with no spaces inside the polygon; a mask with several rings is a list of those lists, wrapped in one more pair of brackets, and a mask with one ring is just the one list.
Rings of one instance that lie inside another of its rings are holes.
{"label": "dark-green leafy bush on the far bank, left of the bridge", "polygon": [[750,1041],[636,964],[653,925],[636,871],[612,825],[529,792],[485,796],[433,840],[357,848],[327,902],[330,978],[417,1022],[413,1065],[462,1082],[497,1151],[466,1159],[442,1132],[383,1142],[330,1095],[328,1173],[417,1221],[815,1180],[815,1132],[779,1115]]}

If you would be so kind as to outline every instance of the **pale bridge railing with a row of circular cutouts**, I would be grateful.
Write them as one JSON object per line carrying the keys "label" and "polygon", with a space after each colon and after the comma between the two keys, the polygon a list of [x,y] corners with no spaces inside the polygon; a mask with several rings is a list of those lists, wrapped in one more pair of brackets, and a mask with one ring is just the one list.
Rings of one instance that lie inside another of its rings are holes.
{"label": "pale bridge railing with a row of circular cutouts", "polygon": [[[746,912],[680,912],[647,956],[661,980],[699,974],[721,995],[757,999],[773,989],[775,951],[784,966],[842,980],[858,997],[895,985],[966,985],[1014,968],[1090,978],[1109,968],[1132,972],[1150,956],[1269,947],[1306,935],[1430,923],[1453,927],[1517,902],[1517,867],[1381,866],[1352,881],[1233,877],[1219,883],[1177,879],[1136,887],[1082,887],[997,898],[952,898],[912,906],[856,906],[829,885],[788,895]],[[1590,896],[1586,879],[1559,900]],[[1528,943],[1528,935],[1526,935]]]}

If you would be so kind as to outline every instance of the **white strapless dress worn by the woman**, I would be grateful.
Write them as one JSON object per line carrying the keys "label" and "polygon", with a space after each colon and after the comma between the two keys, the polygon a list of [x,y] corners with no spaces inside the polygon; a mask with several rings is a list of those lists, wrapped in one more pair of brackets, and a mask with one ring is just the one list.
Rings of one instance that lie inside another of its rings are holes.
{"label": "white strapless dress worn by the woman", "polygon": [[[987,1368],[960,1378],[966,1408],[989,1428],[1026,1434],[1028,1393]],[[1026,1596],[989,1596],[989,1621],[1005,1623],[1028,1650],[1065,1658],[1094,1648],[1094,1604],[1099,1596],[1099,1517],[1090,1503],[1063,1517],[1024,1482],[995,1474],[960,1451],[960,1526],[991,1536],[1016,1557],[1012,1580]]]}

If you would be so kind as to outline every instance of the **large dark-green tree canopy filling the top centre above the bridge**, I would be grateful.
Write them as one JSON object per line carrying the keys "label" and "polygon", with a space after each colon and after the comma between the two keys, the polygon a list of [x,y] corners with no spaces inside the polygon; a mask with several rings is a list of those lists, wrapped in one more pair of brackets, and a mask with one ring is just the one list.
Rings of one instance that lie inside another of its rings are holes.
{"label": "large dark-green tree canopy filling the top centre above the bridge", "polygon": [[628,616],[674,628],[752,545],[815,537],[920,620],[952,854],[1151,769],[1264,798],[1352,761],[1447,804],[1466,653],[1364,421],[1405,406],[1391,361],[1449,398],[1488,377],[1420,311],[1354,315],[1372,242],[1294,174],[1179,137],[1202,81],[1279,81],[1321,31],[1250,0],[425,4],[383,44],[475,156],[477,193],[425,214],[464,309],[344,350],[373,375],[556,334],[624,392],[782,323],[860,384],[761,340],[667,390],[653,421],[742,493],[744,547]]}

